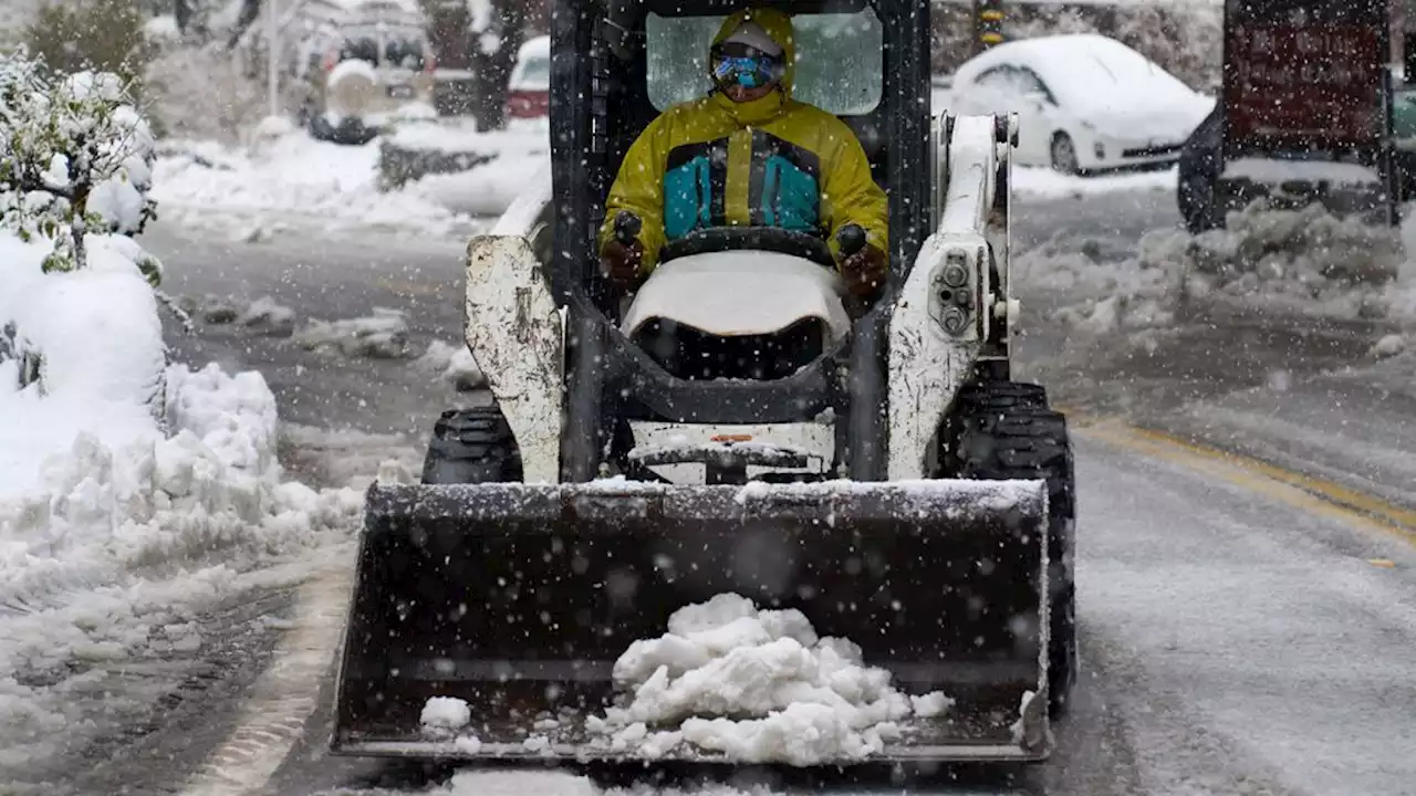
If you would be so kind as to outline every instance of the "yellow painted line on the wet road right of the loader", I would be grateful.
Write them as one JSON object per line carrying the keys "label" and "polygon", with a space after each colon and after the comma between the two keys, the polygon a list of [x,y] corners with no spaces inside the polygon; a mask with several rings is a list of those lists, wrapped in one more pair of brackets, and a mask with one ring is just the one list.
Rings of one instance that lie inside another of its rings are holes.
{"label": "yellow painted line on the wet road right of the loader", "polygon": [[[1416,545],[1416,511],[1338,483],[1124,421],[1059,409],[1078,436],[1184,465],[1252,491],[1334,520],[1358,521]],[[1372,562],[1376,567],[1382,564]]]}

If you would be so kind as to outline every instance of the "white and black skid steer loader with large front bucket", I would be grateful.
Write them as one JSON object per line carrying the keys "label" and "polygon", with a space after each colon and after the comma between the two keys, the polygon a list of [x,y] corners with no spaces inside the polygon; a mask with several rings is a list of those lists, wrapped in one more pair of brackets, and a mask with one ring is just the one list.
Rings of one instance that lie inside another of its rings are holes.
{"label": "white and black skid steer loader with large front bucket", "polygon": [[[422,483],[370,487],[333,751],[632,756],[586,728],[615,660],[735,592],[956,700],[871,759],[1045,759],[1076,677],[1073,474],[1065,418],[1011,380],[1017,118],[930,115],[927,3],[780,3],[796,95],[889,194],[882,297],[848,312],[817,237],[711,228],[626,307],[598,269],[609,186],[739,6],[554,7],[549,180],[469,245],[494,401],[442,414]],[[463,700],[477,742],[425,734],[432,697]]]}

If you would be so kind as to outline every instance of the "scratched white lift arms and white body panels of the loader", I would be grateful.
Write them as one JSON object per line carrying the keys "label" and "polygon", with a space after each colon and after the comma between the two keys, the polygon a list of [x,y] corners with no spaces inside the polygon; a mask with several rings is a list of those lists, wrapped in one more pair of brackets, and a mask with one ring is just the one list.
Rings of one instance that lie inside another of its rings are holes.
{"label": "scratched white lift arms and white body panels of the loader", "polygon": [[[993,116],[937,116],[933,139],[935,231],[895,299],[888,333],[889,480],[927,477],[940,422],[971,378],[993,326],[1011,329],[1018,313],[1008,295],[1007,201],[994,195],[998,176],[1008,178],[1011,143],[997,142]],[[466,341],[515,435],[527,483],[559,480],[565,316],[542,273],[548,187],[538,176],[490,234],[473,238],[467,256]],[[660,265],[639,289],[622,331],[668,319],[718,336],[770,334],[811,317],[824,322],[828,346],[850,334],[833,272],[792,255],[729,251]],[[1007,348],[994,356],[1005,357]],[[760,445],[799,453],[806,463],[767,469],[826,473],[834,459],[833,423],[827,412],[807,423],[634,422],[632,431],[636,450]],[[705,477],[704,465],[651,469],[675,483]]]}

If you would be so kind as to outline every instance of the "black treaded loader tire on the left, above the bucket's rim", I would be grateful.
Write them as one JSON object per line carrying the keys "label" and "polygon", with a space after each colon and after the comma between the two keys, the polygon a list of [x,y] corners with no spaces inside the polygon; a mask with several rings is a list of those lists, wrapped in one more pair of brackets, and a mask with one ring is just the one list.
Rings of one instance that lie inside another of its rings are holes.
{"label": "black treaded loader tire on the left, above the bucket's rim", "polygon": [[423,459],[425,484],[513,483],[521,480],[521,455],[497,406],[447,409],[433,425]]}

